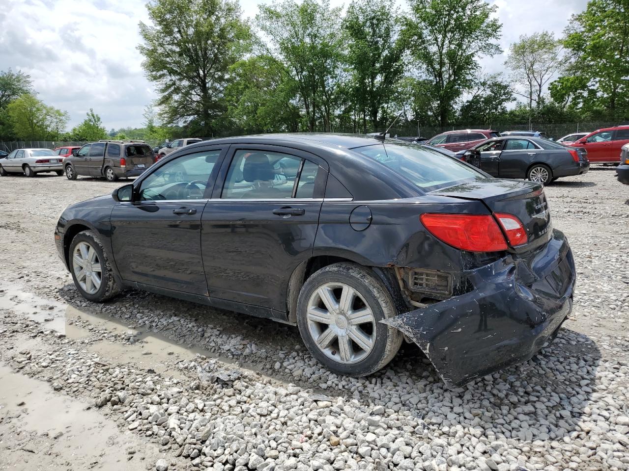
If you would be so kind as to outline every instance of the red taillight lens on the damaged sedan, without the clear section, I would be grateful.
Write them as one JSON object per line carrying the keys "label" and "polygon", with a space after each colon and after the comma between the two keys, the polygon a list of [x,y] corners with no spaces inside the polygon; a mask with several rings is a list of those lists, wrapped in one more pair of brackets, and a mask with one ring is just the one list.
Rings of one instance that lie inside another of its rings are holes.
{"label": "red taillight lens on the damaged sedan, without the clear section", "polygon": [[440,241],[470,252],[499,252],[507,243],[491,215],[422,214],[421,224]]}

